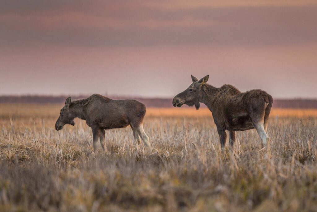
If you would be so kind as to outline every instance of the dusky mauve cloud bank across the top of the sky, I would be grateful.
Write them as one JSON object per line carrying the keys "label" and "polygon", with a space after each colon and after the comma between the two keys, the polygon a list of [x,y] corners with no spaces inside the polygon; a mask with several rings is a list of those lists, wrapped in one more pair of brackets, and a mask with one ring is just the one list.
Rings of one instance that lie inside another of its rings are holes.
{"label": "dusky mauve cloud bank across the top of the sky", "polygon": [[102,48],[317,43],[317,5],[189,5],[180,9],[176,4],[166,9],[152,1],[142,2],[2,1],[0,46],[72,45]]}

